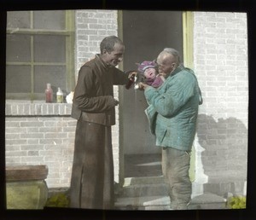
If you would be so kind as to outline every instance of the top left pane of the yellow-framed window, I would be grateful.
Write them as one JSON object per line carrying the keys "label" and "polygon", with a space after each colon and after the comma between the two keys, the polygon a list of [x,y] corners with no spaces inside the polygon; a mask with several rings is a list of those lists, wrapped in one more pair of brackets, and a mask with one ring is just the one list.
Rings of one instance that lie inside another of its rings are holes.
{"label": "top left pane of the yellow-framed window", "polygon": [[7,28],[30,28],[29,11],[9,11],[7,20]]}

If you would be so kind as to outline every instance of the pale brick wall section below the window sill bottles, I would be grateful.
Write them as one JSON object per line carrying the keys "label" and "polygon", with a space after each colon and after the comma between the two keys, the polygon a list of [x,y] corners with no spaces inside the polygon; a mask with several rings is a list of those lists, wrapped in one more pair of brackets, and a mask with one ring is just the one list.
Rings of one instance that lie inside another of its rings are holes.
{"label": "pale brick wall section below the window sill bottles", "polygon": [[47,165],[49,188],[68,187],[76,120],[71,104],[6,103],[6,165]]}

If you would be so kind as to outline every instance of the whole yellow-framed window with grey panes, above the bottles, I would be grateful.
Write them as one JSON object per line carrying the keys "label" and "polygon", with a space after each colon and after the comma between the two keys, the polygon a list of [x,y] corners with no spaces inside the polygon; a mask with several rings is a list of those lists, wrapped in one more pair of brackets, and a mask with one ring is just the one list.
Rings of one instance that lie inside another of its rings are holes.
{"label": "whole yellow-framed window with grey panes, above the bottles", "polygon": [[74,87],[74,12],[9,11],[6,36],[6,98],[43,100]]}

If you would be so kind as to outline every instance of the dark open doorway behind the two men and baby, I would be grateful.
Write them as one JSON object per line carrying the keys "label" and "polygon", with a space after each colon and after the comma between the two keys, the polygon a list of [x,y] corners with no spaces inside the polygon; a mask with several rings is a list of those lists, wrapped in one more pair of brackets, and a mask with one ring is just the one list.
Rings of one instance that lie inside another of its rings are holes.
{"label": "dark open doorway behind the two men and baby", "polygon": [[[136,63],[153,61],[164,48],[175,48],[183,58],[183,13],[181,11],[129,11],[121,13],[125,43],[124,70],[137,70]],[[144,110],[143,91],[120,89],[120,148],[124,177],[161,175],[161,149],[155,146]]]}

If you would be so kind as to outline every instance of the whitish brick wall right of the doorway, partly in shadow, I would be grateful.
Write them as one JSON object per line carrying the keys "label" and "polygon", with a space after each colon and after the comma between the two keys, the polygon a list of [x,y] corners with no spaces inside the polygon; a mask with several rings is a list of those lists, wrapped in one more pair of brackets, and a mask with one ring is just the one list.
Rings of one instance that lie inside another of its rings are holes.
{"label": "whitish brick wall right of the doorway, partly in shadow", "polygon": [[194,63],[204,104],[198,142],[209,182],[247,175],[247,17],[195,12]]}

